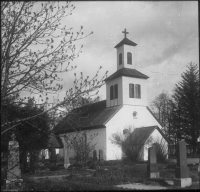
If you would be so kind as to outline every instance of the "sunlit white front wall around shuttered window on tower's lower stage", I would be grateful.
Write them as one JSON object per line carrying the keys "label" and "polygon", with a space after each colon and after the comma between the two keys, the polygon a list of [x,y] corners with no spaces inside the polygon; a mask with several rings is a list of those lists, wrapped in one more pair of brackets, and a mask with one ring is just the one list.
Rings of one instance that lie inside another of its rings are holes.
{"label": "sunlit white front wall around shuttered window on tower's lower stage", "polygon": [[[123,104],[147,106],[147,79],[133,77],[122,77],[123,81]],[[141,98],[129,98],[129,84],[139,84],[141,86]]]}

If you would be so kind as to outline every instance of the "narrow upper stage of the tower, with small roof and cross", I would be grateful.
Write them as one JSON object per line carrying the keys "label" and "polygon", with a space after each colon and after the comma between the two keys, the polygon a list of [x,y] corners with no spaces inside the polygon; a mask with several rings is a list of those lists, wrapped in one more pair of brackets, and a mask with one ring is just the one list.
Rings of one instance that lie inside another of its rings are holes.
{"label": "narrow upper stage of the tower, with small roof and cross", "polygon": [[126,37],[129,34],[126,29],[122,33],[124,33],[124,39],[115,46],[117,49],[117,70],[122,68],[135,69],[134,47],[137,44]]}

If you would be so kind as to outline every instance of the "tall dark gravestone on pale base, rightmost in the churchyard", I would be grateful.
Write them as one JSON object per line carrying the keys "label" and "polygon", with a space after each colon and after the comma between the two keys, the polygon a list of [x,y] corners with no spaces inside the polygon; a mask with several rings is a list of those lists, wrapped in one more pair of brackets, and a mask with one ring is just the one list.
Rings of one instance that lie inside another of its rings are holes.
{"label": "tall dark gravestone on pale base, rightmost in the churchyard", "polygon": [[174,185],[179,187],[191,186],[192,179],[189,178],[189,167],[187,167],[186,142],[179,141],[177,144],[177,164],[175,168]]}

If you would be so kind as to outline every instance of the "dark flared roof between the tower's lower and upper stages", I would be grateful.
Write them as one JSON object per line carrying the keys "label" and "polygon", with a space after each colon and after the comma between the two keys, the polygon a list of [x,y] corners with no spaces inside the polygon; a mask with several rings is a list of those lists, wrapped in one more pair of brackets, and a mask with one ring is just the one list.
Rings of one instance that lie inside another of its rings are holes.
{"label": "dark flared roof between the tower's lower and upper stages", "polygon": [[143,73],[140,73],[136,69],[122,68],[120,70],[117,70],[111,76],[107,77],[105,79],[105,81],[115,79],[120,76],[135,77],[135,78],[140,78],[140,79],[148,79],[149,78],[148,76],[144,75]]}

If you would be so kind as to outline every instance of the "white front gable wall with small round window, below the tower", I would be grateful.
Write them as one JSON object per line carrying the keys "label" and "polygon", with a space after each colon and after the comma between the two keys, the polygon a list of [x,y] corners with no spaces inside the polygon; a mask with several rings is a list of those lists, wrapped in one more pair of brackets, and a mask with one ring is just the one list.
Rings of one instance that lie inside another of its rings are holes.
{"label": "white front gable wall with small round window, below the tower", "polygon": [[[133,112],[137,111],[137,118],[133,117]],[[161,125],[155,120],[151,113],[145,106],[132,106],[123,105],[123,107],[106,123],[106,139],[107,139],[107,160],[113,160],[121,158],[121,149],[114,146],[110,137],[113,133],[120,132],[127,126],[133,126],[133,128],[155,126],[161,128]]]}

